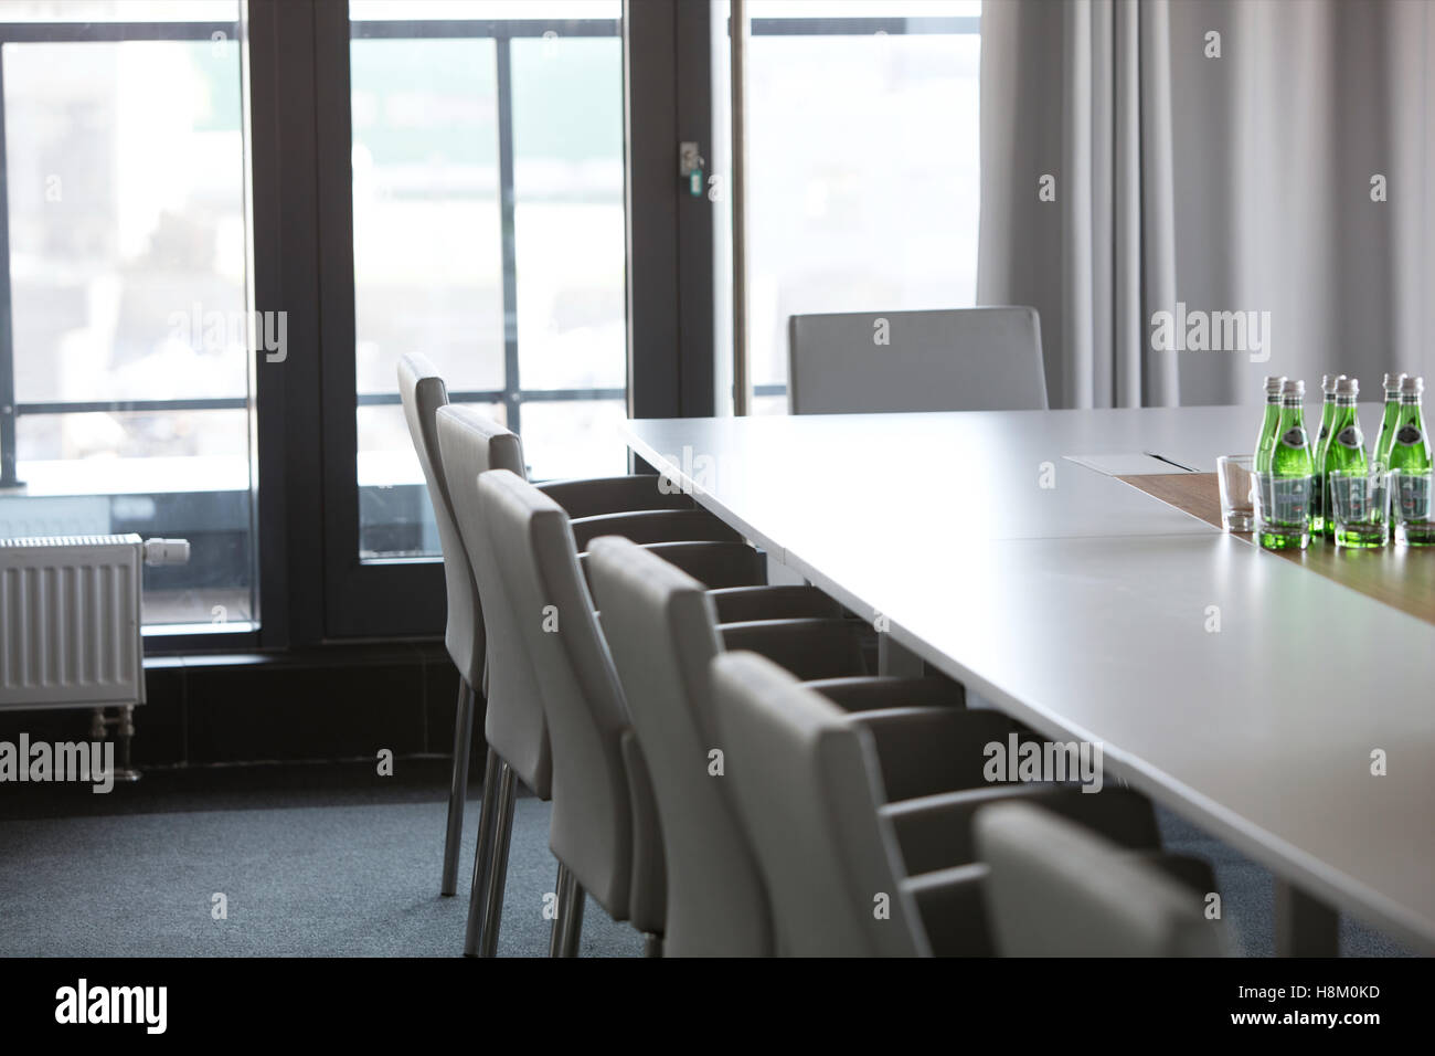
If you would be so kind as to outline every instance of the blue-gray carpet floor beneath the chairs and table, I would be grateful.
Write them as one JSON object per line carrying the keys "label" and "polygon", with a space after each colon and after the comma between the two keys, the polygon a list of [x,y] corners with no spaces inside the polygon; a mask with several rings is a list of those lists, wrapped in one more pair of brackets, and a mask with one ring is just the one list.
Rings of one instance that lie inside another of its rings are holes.
{"label": "blue-gray carpet floor beneath the chairs and table", "polygon": [[[426,789],[344,802],[290,790],[255,806],[199,797],[191,809],[0,820],[0,955],[456,955],[478,805],[466,816],[459,895],[442,898],[442,797]],[[544,895],[557,872],[548,805],[525,796],[514,816],[499,954],[545,955]],[[1270,874],[1167,812],[1161,826],[1168,849],[1215,866],[1246,955],[1271,955]],[[217,892],[225,920],[211,915]],[[581,951],[637,957],[643,941],[590,899]],[[1408,954],[1352,920],[1342,921],[1342,953]]]}

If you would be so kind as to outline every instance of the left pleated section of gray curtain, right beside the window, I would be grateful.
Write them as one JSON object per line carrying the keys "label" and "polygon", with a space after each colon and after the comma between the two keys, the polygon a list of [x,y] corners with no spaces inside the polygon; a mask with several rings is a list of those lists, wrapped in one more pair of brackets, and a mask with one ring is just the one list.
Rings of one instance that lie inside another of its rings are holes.
{"label": "left pleated section of gray curtain, right beside the window", "polygon": [[983,6],[977,302],[1042,313],[1058,407],[1177,401],[1141,325],[1175,287],[1165,7]]}

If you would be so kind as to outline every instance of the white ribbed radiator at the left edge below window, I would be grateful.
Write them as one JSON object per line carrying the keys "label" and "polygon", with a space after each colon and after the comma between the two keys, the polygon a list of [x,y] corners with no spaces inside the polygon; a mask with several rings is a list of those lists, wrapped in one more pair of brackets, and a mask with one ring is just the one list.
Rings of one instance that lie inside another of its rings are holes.
{"label": "white ribbed radiator at the left edge below window", "polygon": [[182,539],[0,539],[0,710],[145,703],[141,563],[184,563]]}

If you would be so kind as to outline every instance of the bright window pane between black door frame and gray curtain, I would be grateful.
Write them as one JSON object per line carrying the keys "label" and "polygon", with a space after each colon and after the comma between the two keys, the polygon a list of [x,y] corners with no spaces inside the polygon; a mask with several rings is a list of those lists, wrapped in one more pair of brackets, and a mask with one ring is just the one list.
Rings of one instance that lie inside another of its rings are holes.
{"label": "bright window pane between black door frame and gray curtain", "polygon": [[[781,392],[795,313],[976,302],[980,4],[752,0],[749,11],[749,362],[755,385]],[[875,32],[847,22],[874,17]],[[715,132],[729,122],[726,63],[715,55]],[[719,287],[730,284],[725,213]],[[719,359],[725,307],[720,292]]]}

